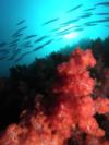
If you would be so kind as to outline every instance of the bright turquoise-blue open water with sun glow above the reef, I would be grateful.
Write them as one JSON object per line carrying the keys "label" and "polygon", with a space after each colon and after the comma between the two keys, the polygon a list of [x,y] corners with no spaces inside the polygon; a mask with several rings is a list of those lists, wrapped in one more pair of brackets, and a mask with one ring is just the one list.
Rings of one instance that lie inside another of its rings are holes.
{"label": "bright turquoise-blue open water with sun glow above the reef", "polygon": [[[0,75],[8,75],[9,68],[12,65],[29,64],[36,57],[43,58],[52,51],[57,52],[82,38],[104,39],[107,37],[109,35],[109,5],[96,4],[106,1],[109,2],[109,0],[0,0],[0,44],[7,43],[0,48],[2,49]],[[80,8],[76,8],[77,5]],[[72,10],[74,8],[75,10]],[[86,11],[87,9],[94,10]],[[86,16],[87,14],[89,16]],[[48,22],[55,19],[56,21]],[[24,23],[17,25],[22,20]],[[107,21],[104,22],[104,20]],[[45,24],[46,22],[48,24]],[[94,25],[86,24],[89,22]],[[25,26],[22,35],[17,37],[16,46],[10,47],[10,43],[16,39],[12,37],[13,34]],[[31,47],[25,47],[25,37],[29,35],[37,35],[37,37],[29,39]],[[43,36],[46,38],[35,43]],[[35,50],[43,45],[45,47]],[[25,52],[27,53],[24,55]]]}

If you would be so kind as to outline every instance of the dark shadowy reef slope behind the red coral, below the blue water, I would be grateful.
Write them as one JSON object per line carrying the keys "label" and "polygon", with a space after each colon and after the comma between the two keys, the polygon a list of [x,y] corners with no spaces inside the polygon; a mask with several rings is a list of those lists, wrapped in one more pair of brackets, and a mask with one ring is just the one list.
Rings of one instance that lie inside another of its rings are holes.
{"label": "dark shadowy reef slope behind the red coral, below the blue water", "polygon": [[[92,75],[100,80],[102,68],[109,68],[109,37],[101,40],[83,39],[78,44],[65,47],[60,52],[45,59],[37,59],[31,65],[16,65],[10,69],[10,77],[0,78],[0,130],[20,120],[21,111],[33,107],[36,94],[43,94],[44,100],[50,100],[50,89],[55,82],[57,65],[69,60],[69,55],[76,47],[90,48],[97,65]],[[101,67],[99,70],[98,67]],[[109,96],[108,96],[109,97]]]}

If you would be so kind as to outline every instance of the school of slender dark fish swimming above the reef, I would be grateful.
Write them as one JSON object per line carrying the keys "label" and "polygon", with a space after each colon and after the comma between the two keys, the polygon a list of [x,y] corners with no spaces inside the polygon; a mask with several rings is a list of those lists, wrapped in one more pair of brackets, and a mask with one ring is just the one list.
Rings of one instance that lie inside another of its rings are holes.
{"label": "school of slender dark fish swimming above the reef", "polygon": [[[26,20],[21,20],[16,23],[16,29],[12,34],[10,41],[0,41],[0,61],[14,61],[19,62],[26,56],[33,52],[37,52],[40,49],[46,48],[56,40],[56,37],[61,38],[63,35],[73,32],[83,32],[88,27],[95,27],[97,25],[102,25],[105,28],[109,28],[109,12],[97,12],[99,7],[107,7],[109,10],[109,2],[98,2],[92,8],[84,9],[83,3],[74,5],[65,12],[65,14],[71,14],[76,11],[81,11],[80,16],[75,19],[70,19],[65,22],[58,23],[61,17],[53,17],[41,24],[43,27],[56,24],[53,29],[50,29],[50,35],[39,36],[37,34],[26,35],[28,26],[26,25]],[[94,19],[93,16],[98,16]],[[88,19],[92,17],[93,21]],[[80,21],[83,20],[82,23]],[[58,23],[58,24],[57,24]],[[78,24],[77,24],[78,23]],[[73,25],[72,25],[73,24]],[[52,38],[52,36],[55,38]]]}

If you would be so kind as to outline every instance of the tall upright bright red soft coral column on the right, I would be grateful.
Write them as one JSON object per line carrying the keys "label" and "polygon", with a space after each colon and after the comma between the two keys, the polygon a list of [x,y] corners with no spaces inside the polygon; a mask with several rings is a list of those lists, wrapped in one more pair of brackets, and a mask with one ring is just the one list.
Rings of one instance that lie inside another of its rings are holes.
{"label": "tall upright bright red soft coral column on the right", "polygon": [[[104,136],[105,132],[99,128],[94,116],[97,112],[109,112],[109,100],[92,98],[95,81],[87,71],[96,64],[96,61],[90,50],[76,49],[71,56],[69,62],[58,67],[58,82],[53,87],[53,93],[60,101],[59,107],[57,106],[57,114],[61,113],[60,106],[63,104],[64,108],[70,108],[68,113],[70,118],[72,117],[71,126],[78,126],[93,136]],[[61,114],[60,118],[63,116]]]}

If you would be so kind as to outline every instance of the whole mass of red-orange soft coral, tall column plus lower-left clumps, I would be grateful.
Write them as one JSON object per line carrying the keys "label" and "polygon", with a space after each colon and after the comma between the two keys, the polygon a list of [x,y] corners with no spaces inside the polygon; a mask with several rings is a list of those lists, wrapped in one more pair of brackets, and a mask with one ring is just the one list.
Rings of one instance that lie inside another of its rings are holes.
{"label": "whole mass of red-orange soft coral, tall column plus lower-left clumps", "polygon": [[[100,145],[97,138],[102,137],[105,131],[95,114],[109,112],[109,99],[92,97],[95,80],[88,69],[95,64],[90,50],[77,48],[69,62],[58,67],[51,96],[57,101],[52,111],[46,113],[48,108],[43,106],[43,98],[36,99],[34,110],[26,111],[19,125],[10,125],[1,135],[0,145],[65,145],[77,130],[89,136],[81,145]],[[101,144],[109,145],[109,142]]]}

